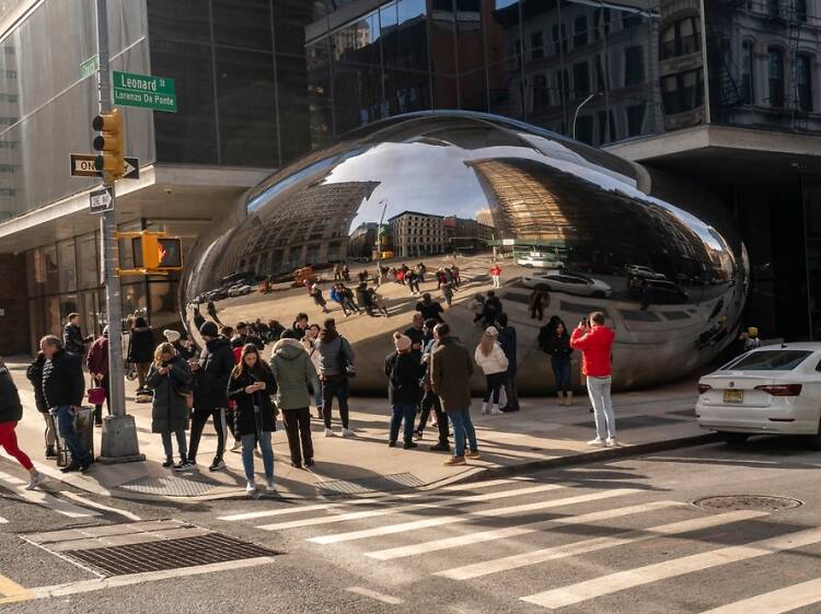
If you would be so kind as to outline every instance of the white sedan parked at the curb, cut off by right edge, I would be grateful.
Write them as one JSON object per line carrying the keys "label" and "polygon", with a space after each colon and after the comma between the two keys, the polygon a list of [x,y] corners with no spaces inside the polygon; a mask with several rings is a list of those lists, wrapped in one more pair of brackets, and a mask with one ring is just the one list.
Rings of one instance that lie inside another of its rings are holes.
{"label": "white sedan parked at the curb, cut off by right edge", "polygon": [[764,346],[705,375],[695,416],[728,442],[805,435],[821,449],[821,344]]}

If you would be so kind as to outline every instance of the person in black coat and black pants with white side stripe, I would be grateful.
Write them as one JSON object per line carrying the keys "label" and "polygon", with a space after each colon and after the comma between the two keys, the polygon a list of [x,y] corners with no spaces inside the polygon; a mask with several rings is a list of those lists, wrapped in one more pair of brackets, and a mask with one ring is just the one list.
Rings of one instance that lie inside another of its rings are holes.
{"label": "person in black coat and black pants with white side stripe", "polygon": [[188,461],[196,464],[199,439],[209,417],[213,418],[217,431],[217,455],[208,467],[218,471],[226,467],[222,456],[226,453],[226,428],[233,433],[233,416],[228,413],[228,380],[234,368],[234,354],[231,343],[217,331],[217,324],[206,322],[199,334],[205,349],[198,361],[192,362],[194,371],[194,413],[190,425]]}

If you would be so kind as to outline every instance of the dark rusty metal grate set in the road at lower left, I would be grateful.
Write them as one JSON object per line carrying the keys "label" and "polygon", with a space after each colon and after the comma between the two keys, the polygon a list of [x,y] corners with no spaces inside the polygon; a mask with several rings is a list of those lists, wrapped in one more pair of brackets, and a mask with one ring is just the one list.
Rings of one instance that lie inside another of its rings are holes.
{"label": "dark rusty metal grate set in the road at lower left", "polygon": [[79,560],[103,576],[126,576],[269,557],[280,553],[241,542],[221,533],[209,533],[180,540],[65,551],[62,554]]}

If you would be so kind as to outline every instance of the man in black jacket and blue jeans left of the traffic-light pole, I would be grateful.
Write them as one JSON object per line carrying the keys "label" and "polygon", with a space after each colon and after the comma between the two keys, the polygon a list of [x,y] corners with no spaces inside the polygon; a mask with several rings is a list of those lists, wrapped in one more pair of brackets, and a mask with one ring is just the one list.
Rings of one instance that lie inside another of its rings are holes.
{"label": "man in black jacket and blue jeans left of the traffic-light pole", "polygon": [[83,402],[85,382],[80,356],[67,351],[59,337],[47,335],[39,349],[46,356],[43,366],[43,396],[46,407],[57,421],[57,430],[71,452],[71,462],[63,473],[89,468],[91,456],[74,428],[74,415]]}

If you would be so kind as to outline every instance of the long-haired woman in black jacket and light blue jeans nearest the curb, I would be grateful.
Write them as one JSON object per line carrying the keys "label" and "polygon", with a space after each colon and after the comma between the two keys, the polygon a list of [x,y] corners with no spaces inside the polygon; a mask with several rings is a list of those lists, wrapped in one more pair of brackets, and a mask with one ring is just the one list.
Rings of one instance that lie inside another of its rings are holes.
{"label": "long-haired woman in black jacket and light blue jeans nearest the curb", "polygon": [[270,433],[277,430],[277,418],[271,395],[277,392],[274,373],[259,356],[254,344],[242,348],[240,363],[234,367],[228,381],[228,397],[236,402],[234,410],[234,435],[242,442],[242,466],[247,484],[245,491],[256,493],[254,478],[254,449],[257,442],[263,453],[265,490],[273,493],[274,450]]}

